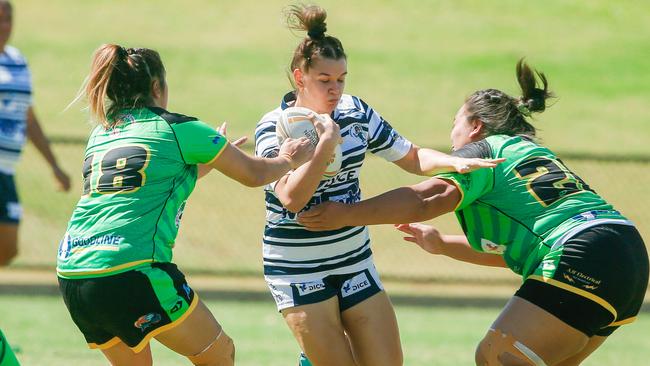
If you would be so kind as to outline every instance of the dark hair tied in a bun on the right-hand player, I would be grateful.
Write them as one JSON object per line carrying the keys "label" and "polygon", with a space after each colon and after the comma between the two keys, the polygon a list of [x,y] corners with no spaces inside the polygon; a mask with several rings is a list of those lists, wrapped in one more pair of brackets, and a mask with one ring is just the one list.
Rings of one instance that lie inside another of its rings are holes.
{"label": "dark hair tied in a bun on the right-hand player", "polygon": [[[523,135],[534,138],[535,127],[527,117],[541,113],[546,109],[546,99],[553,94],[548,90],[548,81],[544,73],[533,71],[523,59],[517,62],[517,81],[522,96],[513,98],[497,89],[483,89],[467,97],[465,105],[469,119],[483,122],[485,135]],[[543,89],[538,87],[541,80]]]}

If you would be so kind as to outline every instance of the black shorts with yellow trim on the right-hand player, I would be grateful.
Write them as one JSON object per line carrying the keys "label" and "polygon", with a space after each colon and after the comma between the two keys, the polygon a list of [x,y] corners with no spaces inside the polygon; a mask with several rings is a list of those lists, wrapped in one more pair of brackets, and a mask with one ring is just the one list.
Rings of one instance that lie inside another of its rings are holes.
{"label": "black shorts with yellow trim on the right-hand player", "polygon": [[[545,263],[546,262],[546,263]],[[648,287],[648,252],[634,226],[603,224],[568,239],[556,259],[529,276],[515,296],[591,337],[636,319]]]}

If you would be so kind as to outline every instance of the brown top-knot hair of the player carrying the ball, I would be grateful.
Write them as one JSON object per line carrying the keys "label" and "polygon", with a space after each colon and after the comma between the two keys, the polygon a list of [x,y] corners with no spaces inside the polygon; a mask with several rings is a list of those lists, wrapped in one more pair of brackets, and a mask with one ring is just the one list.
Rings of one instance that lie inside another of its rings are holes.
{"label": "brown top-knot hair of the player carrying the ball", "polygon": [[289,72],[295,69],[308,71],[318,58],[338,60],[347,58],[343,45],[336,37],[326,35],[327,12],[316,5],[292,5],[288,8],[287,24],[290,29],[306,31],[307,37],[296,47]]}

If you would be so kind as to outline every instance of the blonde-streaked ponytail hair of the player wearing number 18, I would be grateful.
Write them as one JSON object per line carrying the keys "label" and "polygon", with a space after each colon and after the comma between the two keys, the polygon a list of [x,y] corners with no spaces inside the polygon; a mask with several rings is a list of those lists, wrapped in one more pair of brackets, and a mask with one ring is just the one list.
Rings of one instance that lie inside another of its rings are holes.
{"label": "blonde-streaked ponytail hair of the player wearing number 18", "polygon": [[104,44],[95,51],[85,88],[75,101],[85,93],[91,117],[110,128],[121,109],[153,104],[154,80],[165,87],[165,67],[158,52]]}

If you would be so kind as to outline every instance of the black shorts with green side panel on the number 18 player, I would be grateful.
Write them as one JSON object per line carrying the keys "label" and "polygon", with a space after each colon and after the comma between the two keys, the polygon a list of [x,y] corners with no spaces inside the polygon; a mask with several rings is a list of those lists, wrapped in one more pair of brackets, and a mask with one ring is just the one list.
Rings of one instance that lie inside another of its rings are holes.
{"label": "black shorts with green side panel on the number 18 player", "polygon": [[59,277],[59,290],[90,348],[107,349],[121,340],[136,353],[185,320],[198,303],[173,263],[106,277]]}

